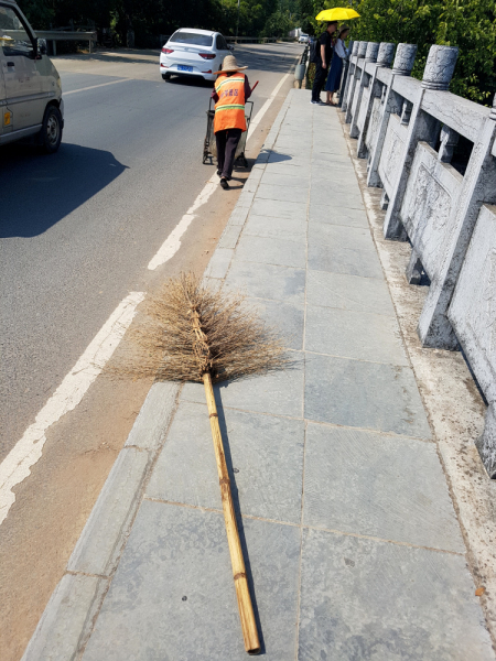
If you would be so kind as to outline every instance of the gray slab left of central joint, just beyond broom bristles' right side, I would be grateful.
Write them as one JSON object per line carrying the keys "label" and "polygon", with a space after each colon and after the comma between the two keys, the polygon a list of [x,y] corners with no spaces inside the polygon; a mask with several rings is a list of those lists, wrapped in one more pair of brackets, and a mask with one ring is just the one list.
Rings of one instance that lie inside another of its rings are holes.
{"label": "gray slab left of central joint, just beyond broom bristles' right side", "polygon": [[234,260],[225,286],[255,299],[303,303],[305,271]]}

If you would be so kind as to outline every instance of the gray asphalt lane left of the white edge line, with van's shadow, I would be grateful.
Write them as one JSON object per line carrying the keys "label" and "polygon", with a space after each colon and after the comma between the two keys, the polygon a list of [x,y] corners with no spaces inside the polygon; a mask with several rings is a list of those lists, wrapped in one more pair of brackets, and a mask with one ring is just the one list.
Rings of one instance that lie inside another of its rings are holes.
{"label": "gray asphalt lane left of the white edge line, with van's shadow", "polygon": [[[251,84],[260,80],[256,108],[299,52],[236,50]],[[55,64],[60,152],[0,151],[0,462],[119,301],[144,291],[149,260],[213,172],[201,160],[212,85],[164,83],[150,56]]]}

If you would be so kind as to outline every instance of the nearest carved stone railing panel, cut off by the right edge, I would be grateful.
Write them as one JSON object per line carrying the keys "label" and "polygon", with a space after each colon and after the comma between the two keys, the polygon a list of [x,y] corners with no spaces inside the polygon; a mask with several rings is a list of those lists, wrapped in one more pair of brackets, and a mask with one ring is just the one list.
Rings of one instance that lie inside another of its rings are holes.
{"label": "nearest carved stone railing panel, cut off by the right edge", "polygon": [[496,401],[496,207],[484,205],[448,312],[489,403]]}

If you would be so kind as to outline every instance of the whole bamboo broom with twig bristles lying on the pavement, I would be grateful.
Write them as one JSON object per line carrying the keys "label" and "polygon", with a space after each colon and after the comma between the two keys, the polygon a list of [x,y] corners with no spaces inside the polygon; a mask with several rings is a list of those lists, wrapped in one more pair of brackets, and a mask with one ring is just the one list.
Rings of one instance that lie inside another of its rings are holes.
{"label": "whole bamboo broom with twig bristles lying on the pavement", "polygon": [[192,273],[171,279],[161,294],[151,299],[145,313],[145,323],[134,332],[134,338],[144,349],[143,356],[131,366],[118,367],[117,371],[203,382],[205,387],[245,649],[249,654],[258,654],[260,642],[213,383],[281,369],[289,361],[281,339],[244,304],[244,296],[211,289]]}

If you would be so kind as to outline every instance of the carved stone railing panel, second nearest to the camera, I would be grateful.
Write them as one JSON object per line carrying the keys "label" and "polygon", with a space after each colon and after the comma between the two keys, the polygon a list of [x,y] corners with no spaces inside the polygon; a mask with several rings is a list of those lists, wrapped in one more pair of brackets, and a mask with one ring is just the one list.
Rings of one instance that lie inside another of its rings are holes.
{"label": "carved stone railing panel, second nearest to the camera", "polygon": [[451,165],[441,163],[427,142],[419,142],[400,218],[431,280],[441,274],[453,240],[450,217],[462,182],[462,175]]}

